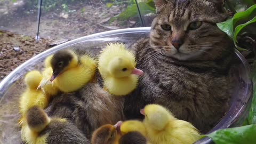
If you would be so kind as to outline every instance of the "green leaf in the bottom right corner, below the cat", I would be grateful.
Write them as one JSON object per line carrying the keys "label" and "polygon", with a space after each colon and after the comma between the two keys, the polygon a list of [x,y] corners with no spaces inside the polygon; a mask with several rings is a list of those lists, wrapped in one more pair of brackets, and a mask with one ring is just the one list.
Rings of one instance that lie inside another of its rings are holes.
{"label": "green leaf in the bottom right corner, below the cat", "polygon": [[246,125],[218,130],[206,136],[210,137],[215,144],[254,144],[256,143],[255,135],[256,125]]}

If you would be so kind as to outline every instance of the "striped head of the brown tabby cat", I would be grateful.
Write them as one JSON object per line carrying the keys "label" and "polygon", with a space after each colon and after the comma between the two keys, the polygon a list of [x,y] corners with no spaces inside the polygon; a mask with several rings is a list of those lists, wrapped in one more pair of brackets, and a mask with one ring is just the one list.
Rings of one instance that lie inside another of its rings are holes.
{"label": "striped head of the brown tabby cat", "polygon": [[157,52],[178,60],[214,60],[233,50],[216,25],[228,18],[224,0],[156,0],[155,5],[150,44]]}

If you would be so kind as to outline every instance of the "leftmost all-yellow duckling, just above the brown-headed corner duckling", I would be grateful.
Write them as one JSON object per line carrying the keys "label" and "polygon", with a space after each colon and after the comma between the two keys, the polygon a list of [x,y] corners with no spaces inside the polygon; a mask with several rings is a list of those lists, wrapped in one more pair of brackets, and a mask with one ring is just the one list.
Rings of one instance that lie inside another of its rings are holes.
{"label": "leftmost all-yellow duckling, just above the brown-headed corner duckling", "polygon": [[20,113],[21,120],[20,124],[23,122],[23,117],[26,111],[33,106],[39,106],[45,108],[48,105],[49,97],[46,97],[41,90],[37,90],[37,86],[42,80],[42,75],[39,71],[33,70],[27,73],[25,76],[25,84],[27,86],[25,92],[21,94],[20,98]]}

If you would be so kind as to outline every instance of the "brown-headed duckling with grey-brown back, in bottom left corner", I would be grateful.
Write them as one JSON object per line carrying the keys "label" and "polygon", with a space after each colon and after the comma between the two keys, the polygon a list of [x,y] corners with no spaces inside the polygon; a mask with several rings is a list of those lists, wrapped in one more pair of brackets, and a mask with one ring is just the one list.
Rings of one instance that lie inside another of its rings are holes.
{"label": "brown-headed duckling with grey-brown back, in bottom left corner", "polygon": [[22,127],[22,140],[27,144],[90,143],[72,123],[62,118],[50,118],[38,106],[26,113],[26,126]]}

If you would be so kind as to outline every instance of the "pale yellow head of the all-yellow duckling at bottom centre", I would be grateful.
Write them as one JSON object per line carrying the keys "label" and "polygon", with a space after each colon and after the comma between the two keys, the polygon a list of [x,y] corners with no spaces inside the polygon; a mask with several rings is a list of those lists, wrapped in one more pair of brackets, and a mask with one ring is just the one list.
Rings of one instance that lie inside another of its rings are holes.
{"label": "pale yellow head of the all-yellow duckling at bottom centre", "polygon": [[142,115],[145,115],[145,126],[152,127],[155,130],[163,130],[174,116],[164,107],[160,105],[147,105],[144,109],[140,110]]}

